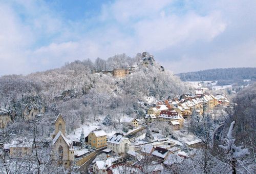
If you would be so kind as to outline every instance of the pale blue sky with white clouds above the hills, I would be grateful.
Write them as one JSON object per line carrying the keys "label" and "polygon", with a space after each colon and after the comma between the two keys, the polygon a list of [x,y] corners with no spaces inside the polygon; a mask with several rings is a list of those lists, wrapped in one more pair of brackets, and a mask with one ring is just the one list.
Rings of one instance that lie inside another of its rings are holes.
{"label": "pale blue sky with white clouds above the hills", "polygon": [[256,67],[255,9],[255,0],[0,0],[0,75],[145,51],[174,73]]}

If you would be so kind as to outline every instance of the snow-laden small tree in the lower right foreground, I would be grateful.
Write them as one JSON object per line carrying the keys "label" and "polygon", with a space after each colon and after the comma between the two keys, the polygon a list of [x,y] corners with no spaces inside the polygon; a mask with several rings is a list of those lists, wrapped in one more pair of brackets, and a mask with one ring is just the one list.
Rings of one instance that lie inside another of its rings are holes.
{"label": "snow-laden small tree in the lower right foreground", "polygon": [[242,145],[236,146],[234,143],[236,141],[236,139],[232,136],[234,123],[235,121],[231,122],[227,133],[227,138],[224,139],[224,141],[226,141],[226,145],[219,145],[227,154],[227,159],[230,162],[233,174],[237,173],[237,159],[250,154],[248,148],[243,148]]}

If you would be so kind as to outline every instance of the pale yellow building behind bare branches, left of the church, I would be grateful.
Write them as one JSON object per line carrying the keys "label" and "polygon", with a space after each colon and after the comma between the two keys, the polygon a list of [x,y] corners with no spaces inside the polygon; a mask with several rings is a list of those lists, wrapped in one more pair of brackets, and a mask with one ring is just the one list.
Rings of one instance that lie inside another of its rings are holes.
{"label": "pale yellow building behind bare branches, left of the church", "polygon": [[10,158],[22,158],[33,153],[33,140],[15,140],[9,146]]}

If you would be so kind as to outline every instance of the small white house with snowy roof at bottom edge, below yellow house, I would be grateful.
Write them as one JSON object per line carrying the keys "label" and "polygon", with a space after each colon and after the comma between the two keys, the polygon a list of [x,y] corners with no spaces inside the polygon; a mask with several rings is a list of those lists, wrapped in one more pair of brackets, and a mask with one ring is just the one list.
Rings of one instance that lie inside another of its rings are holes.
{"label": "small white house with snowy roof at bottom edge, below yellow house", "polygon": [[94,174],[108,174],[110,167],[112,166],[112,160],[96,161],[93,165]]}

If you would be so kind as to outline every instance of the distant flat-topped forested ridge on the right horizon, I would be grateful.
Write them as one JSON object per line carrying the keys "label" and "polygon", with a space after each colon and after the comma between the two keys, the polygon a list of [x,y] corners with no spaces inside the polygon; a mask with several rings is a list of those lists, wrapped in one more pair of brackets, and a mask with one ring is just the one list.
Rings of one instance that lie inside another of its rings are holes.
{"label": "distant flat-topped forested ridge on the right horizon", "polygon": [[256,79],[256,68],[220,68],[177,74],[182,81],[220,80],[238,82],[243,79]]}

